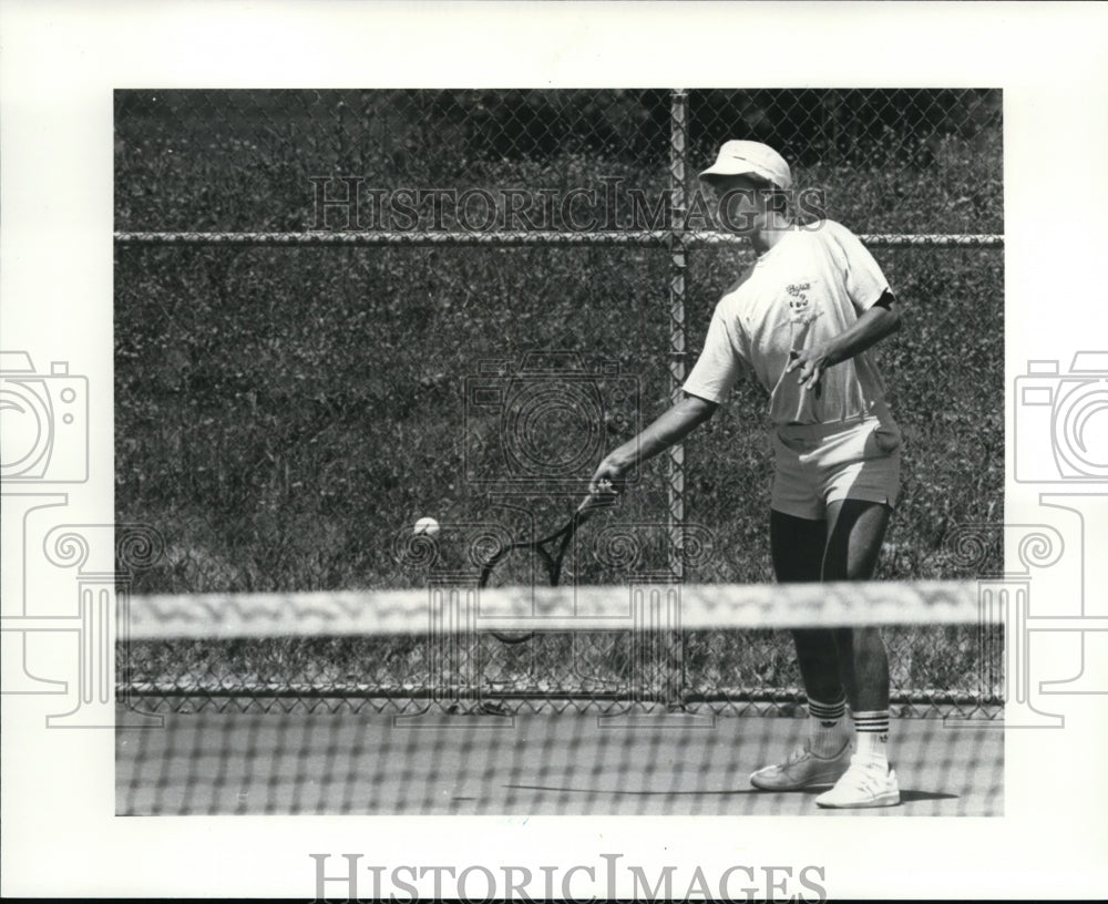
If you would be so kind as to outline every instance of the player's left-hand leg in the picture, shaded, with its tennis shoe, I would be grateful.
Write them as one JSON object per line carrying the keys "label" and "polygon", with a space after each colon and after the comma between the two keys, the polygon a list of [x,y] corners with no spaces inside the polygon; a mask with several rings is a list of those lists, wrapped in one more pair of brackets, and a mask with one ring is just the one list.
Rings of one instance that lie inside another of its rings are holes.
{"label": "player's left-hand leg in the picture, shaded, with its tennis shoe", "polygon": [[[820,579],[827,524],[823,521],[770,513],[773,572],[781,584]],[[850,763],[850,725],[833,633],[828,628],[792,631],[804,691],[809,728],[804,743],[782,763],[759,769],[751,784],[767,791],[791,791],[830,784]]]}

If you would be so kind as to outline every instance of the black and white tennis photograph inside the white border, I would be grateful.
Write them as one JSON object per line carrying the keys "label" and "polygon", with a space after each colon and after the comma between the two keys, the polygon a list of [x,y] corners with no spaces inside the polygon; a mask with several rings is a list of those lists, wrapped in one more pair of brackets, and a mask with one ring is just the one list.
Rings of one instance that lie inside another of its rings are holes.
{"label": "black and white tennis photograph inside the white border", "polygon": [[1002,125],[117,92],[117,812],[1003,813]]}

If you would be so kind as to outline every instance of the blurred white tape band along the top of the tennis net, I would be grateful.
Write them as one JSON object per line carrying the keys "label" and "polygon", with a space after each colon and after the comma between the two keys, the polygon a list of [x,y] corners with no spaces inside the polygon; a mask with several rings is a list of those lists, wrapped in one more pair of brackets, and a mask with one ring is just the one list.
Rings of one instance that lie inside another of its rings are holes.
{"label": "blurred white tape band along the top of the tennis net", "polygon": [[844,582],[151,595],[124,599],[119,618],[134,640],[412,634],[450,599],[468,613],[447,628],[453,630],[604,630],[625,627],[643,602],[667,605],[666,624],[689,630],[955,625],[983,617],[974,583]]}

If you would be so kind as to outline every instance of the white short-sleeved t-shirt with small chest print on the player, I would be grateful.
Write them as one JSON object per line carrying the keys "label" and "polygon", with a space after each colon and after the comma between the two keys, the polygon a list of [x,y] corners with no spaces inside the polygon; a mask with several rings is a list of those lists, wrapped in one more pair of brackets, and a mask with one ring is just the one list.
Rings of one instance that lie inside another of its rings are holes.
{"label": "white short-sleeved t-shirt with small chest print on the player", "polygon": [[[817,228],[818,227],[818,228]],[[865,352],[820,379],[786,373],[789,352],[838,336],[889,288],[878,261],[844,226],[821,220],[787,233],[720,299],[685,391],[722,402],[743,371],[770,393],[774,424],[833,423],[883,409],[884,386]]]}

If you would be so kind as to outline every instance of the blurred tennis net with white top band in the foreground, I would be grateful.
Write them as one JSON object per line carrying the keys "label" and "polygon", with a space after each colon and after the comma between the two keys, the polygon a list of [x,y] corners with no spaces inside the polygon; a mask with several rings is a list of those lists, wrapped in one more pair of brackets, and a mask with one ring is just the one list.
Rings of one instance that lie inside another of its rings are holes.
{"label": "blurred tennis net with white top band in the foreground", "polygon": [[814,814],[748,775],[807,731],[781,629],[849,625],[891,650],[881,812],[1003,810],[973,584],[121,597],[117,622],[120,814]]}

